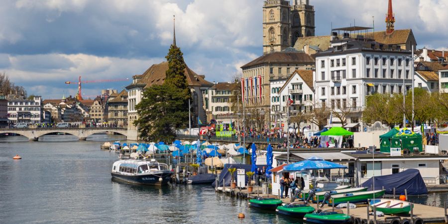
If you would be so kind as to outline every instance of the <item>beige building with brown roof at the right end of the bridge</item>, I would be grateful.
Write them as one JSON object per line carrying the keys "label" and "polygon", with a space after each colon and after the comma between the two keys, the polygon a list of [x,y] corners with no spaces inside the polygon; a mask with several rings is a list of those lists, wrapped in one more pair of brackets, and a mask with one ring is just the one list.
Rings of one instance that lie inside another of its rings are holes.
{"label": "beige building with brown roof at the right end of the bridge", "polygon": [[[113,96],[112,96],[113,95]],[[127,91],[122,90],[119,94],[111,94],[109,97],[109,124],[119,127],[127,126]]]}

